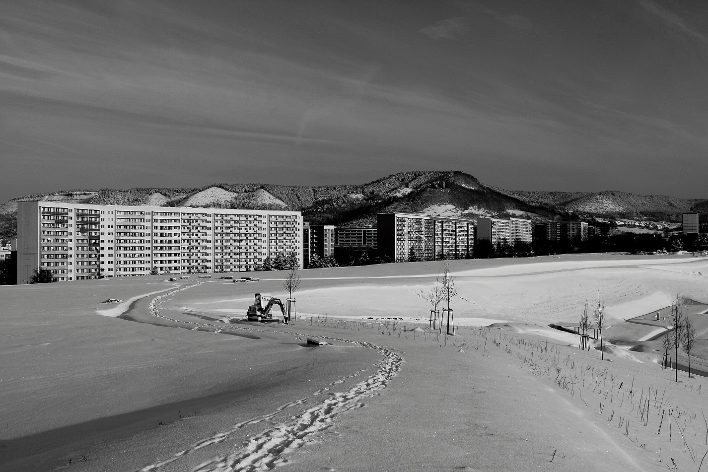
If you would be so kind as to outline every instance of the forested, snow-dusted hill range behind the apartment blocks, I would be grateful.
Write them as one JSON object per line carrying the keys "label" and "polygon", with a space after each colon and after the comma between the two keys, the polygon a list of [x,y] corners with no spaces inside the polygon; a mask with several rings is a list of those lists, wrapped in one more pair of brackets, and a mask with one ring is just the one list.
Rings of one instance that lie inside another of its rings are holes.
{"label": "forested, snow-dusted hill range behind the apartment blocks", "polygon": [[215,183],[202,188],[81,189],[17,197],[0,205],[0,238],[14,237],[17,202],[51,200],[94,205],[270,208],[302,211],[314,224],[373,224],[379,212],[448,217],[524,216],[553,219],[576,213],[680,221],[681,213],[708,217],[708,200],[619,191],[535,192],[485,185],[459,171],[411,171],[362,185]]}

